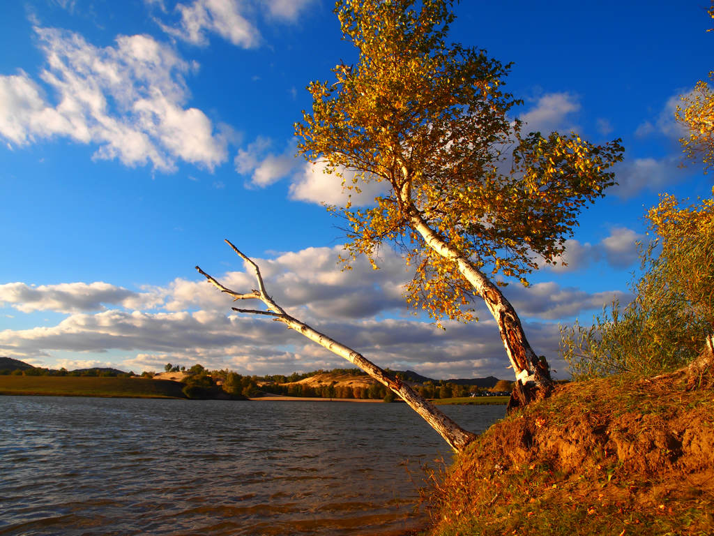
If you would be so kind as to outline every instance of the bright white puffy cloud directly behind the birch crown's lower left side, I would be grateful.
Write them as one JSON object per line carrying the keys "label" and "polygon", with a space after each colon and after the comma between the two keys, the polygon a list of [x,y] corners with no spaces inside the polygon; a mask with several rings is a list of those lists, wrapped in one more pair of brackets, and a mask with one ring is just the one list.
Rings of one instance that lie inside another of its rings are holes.
{"label": "bright white puffy cloud directly behind the birch crown's lower left side", "polygon": [[356,174],[348,169],[340,168],[336,172],[342,177],[338,177],[335,173],[326,173],[325,169],[326,164],[323,162],[306,163],[302,172],[293,177],[293,183],[290,185],[291,199],[318,204],[326,203],[338,207],[344,207],[350,199],[353,206],[363,207],[373,204],[375,197],[386,192],[386,184],[375,180],[367,184],[359,180],[359,192],[354,189],[345,189],[342,186],[343,180],[345,184],[352,185]]}

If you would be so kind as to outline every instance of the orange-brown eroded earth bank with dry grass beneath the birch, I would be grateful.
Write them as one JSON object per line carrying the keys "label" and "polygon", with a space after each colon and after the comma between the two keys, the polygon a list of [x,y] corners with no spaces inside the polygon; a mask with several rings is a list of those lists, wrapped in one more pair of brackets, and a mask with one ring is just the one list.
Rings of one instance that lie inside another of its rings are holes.
{"label": "orange-brown eroded earth bank with dry grass beneath the birch", "polygon": [[435,480],[430,536],[714,535],[714,366],[558,387]]}

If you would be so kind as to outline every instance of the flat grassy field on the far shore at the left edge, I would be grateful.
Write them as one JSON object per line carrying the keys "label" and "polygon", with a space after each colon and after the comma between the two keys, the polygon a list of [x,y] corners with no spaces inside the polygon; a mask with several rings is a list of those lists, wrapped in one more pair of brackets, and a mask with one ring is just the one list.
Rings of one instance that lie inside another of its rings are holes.
{"label": "flat grassy field on the far shore at the left edge", "polygon": [[186,398],[166,379],[85,376],[0,376],[0,394],[75,397]]}

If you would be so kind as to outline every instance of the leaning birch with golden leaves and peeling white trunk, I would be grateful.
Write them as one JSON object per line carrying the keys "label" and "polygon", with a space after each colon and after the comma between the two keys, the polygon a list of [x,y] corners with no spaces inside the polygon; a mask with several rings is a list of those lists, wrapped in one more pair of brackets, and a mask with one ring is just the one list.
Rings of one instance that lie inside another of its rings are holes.
{"label": "leaning birch with golden leaves and peeling white trunk", "polygon": [[356,65],[313,81],[312,111],[296,124],[298,150],[343,187],[382,182],[373,207],[331,209],[346,219],[350,262],[376,267],[383,244],[403,250],[414,276],[406,299],[440,322],[476,319],[481,297],[516,374],[509,407],[553,389],[550,369],[528,344],[501,291],[553,262],[583,207],[614,184],[619,140],[594,145],[577,134],[522,133],[521,104],[503,91],[509,65],[447,42],[453,0],[338,0],[343,38]]}

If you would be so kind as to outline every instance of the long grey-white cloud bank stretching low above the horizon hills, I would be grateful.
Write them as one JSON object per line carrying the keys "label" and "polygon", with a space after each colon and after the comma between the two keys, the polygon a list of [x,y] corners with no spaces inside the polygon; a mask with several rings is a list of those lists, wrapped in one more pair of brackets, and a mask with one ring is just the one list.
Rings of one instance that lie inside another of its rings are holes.
{"label": "long grey-white cloud bank stretching low above the horizon hills", "polygon": [[[614,251],[621,244],[610,245]],[[255,260],[268,292],[288,312],[385,367],[408,367],[436,377],[510,377],[501,337],[488,312],[481,311],[481,322],[473,324],[445,322],[444,332],[408,316],[401,291],[411,274],[398,254],[383,252],[379,270],[360,259],[343,272],[336,264],[340,252],[341,247],[306,248]],[[255,287],[252,274],[245,271],[214,275],[238,292]],[[513,285],[506,288],[506,296],[526,322],[533,347],[549,356],[557,349],[558,330],[543,319],[599,309],[613,297],[626,299],[619,292],[588,293],[555,283],[529,289]],[[231,312],[233,302],[201,279],[176,279],[165,287],[136,292],[106,283],[13,283],[0,286],[0,301],[23,312],[67,314],[56,325],[0,332],[0,354],[36,364],[62,366],[59,359],[94,359],[141,372],[161,369],[166,362],[200,362],[251,374],[345,365],[279,322]],[[67,352],[76,357],[67,357]],[[109,352],[123,357],[102,357]]]}

